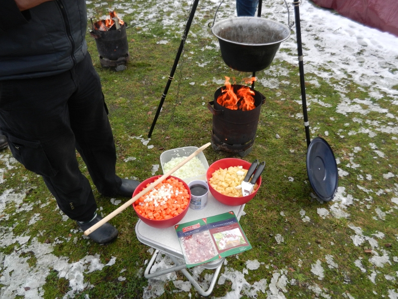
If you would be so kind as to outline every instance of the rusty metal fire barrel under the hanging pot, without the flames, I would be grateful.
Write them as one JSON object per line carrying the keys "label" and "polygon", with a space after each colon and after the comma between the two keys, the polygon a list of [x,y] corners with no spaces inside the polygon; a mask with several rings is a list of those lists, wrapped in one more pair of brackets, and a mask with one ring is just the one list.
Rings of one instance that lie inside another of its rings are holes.
{"label": "rusty metal fire barrel under the hanging pot, without the flames", "polygon": [[[236,92],[244,86],[233,84],[232,87]],[[214,150],[235,152],[244,157],[253,149],[260,109],[265,102],[265,97],[251,88],[254,91],[256,108],[249,111],[231,110],[217,103],[222,88],[220,87],[214,93],[214,101],[207,104],[208,110],[213,114],[211,145]]]}

